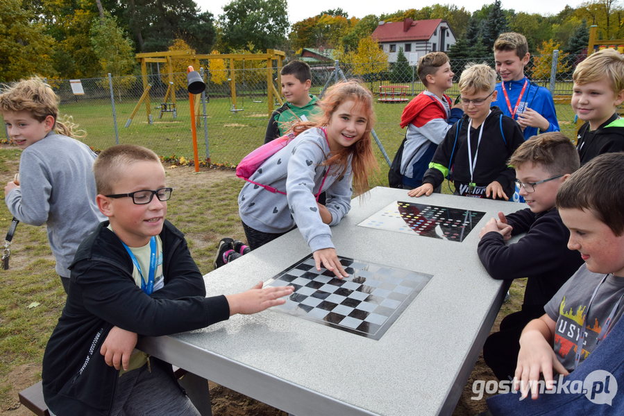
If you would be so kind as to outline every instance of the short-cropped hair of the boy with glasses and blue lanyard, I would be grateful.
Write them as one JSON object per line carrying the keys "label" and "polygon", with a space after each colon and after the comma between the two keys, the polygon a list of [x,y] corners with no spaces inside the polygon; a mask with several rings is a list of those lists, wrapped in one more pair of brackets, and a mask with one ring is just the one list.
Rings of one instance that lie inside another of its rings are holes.
{"label": "short-cropped hair of the boy with glasses and blue lanyard", "polygon": [[124,175],[124,168],[133,162],[160,163],[160,157],[152,150],[135,144],[119,144],[103,150],[93,164],[97,193],[112,193],[113,185]]}

